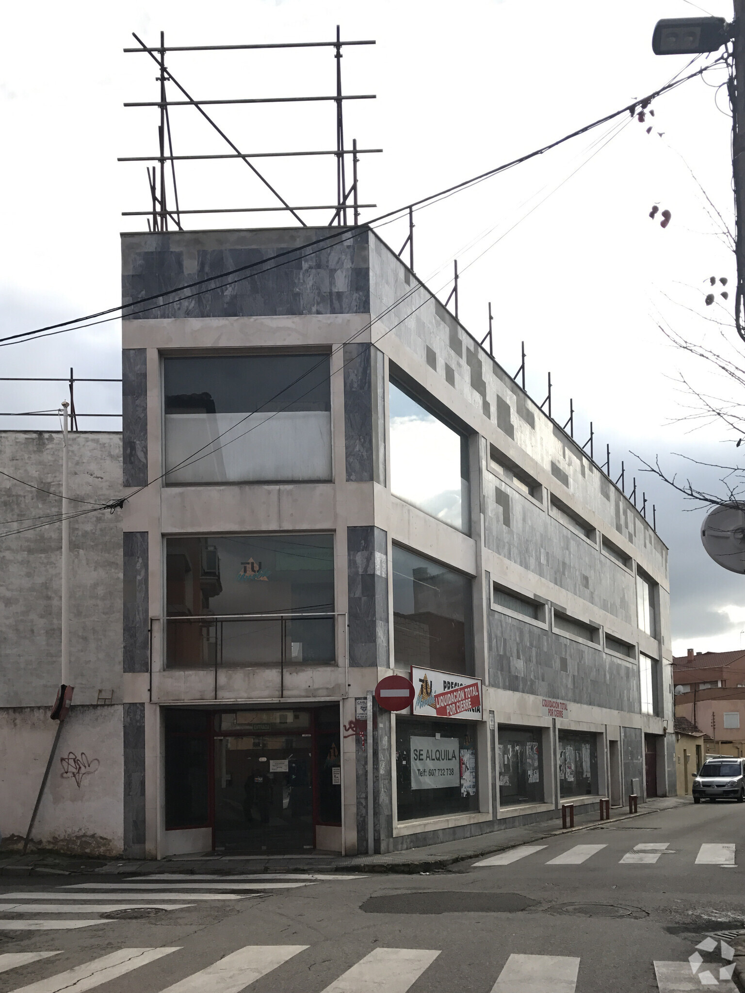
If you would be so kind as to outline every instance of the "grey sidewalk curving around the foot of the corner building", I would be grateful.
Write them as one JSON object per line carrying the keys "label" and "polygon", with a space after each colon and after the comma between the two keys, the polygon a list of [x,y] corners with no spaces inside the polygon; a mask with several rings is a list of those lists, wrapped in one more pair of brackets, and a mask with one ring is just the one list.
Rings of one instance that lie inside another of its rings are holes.
{"label": "grey sidewalk curving around the foot of the corner building", "polygon": [[[558,834],[571,834],[590,827],[601,830],[620,820],[644,817],[649,813],[669,810],[672,807],[690,803],[690,797],[656,797],[649,803],[639,804],[639,813],[629,814],[625,807],[611,810],[610,821],[598,820],[598,810],[593,804],[591,812],[577,815],[575,827],[562,831],[556,819],[528,824],[524,827],[510,827],[491,831],[476,838],[459,841],[446,841],[438,845],[426,845],[404,852],[389,852],[385,855],[353,855],[342,858],[340,855],[176,855],[160,861],[81,859],[72,856],[38,852],[33,855],[16,855],[0,852],[0,876],[49,876],[73,875],[79,873],[100,873],[102,875],[138,875],[179,872],[216,873],[232,876],[242,873],[264,872],[361,872],[361,873],[422,873],[448,869],[458,862],[479,858],[494,852],[501,852],[518,845],[529,844]],[[557,827],[558,824],[558,827]]]}

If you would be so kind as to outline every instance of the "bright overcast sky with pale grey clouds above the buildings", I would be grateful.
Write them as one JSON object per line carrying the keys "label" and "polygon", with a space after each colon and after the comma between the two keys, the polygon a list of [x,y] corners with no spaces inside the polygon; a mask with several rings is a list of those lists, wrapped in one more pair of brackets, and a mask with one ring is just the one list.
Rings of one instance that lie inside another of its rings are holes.
{"label": "bright overcast sky with pale grey clouds above the buildings", "polygon": [[[704,0],[705,5],[705,0]],[[361,198],[373,216],[478,174],[625,106],[667,82],[687,58],[657,58],[651,37],[661,17],[695,15],[685,0],[587,2],[471,0],[140,0],[124,4],[15,4],[0,38],[2,171],[0,330],[25,331],[110,307],[119,295],[120,230],[144,229],[144,164],[117,156],[154,154],[154,109],[124,100],[156,100],[156,69],[145,55],[123,55],[131,32],[150,45],[221,45],[374,39],[345,49],[347,92],[376,93],[346,104],[348,143],[382,148],[363,158]],[[707,13],[731,17],[729,4]],[[169,68],[196,98],[331,94],[329,49],[173,54]],[[696,63],[692,69],[701,65]],[[694,79],[654,104],[644,124],[628,114],[479,184],[416,216],[415,269],[442,299],[454,258],[462,274],[460,316],[481,337],[487,305],[495,314],[495,355],[511,371],[527,352],[528,390],[554,383],[557,419],[575,407],[580,444],[592,420],[596,456],[611,446],[612,472],[624,459],[658,509],[671,549],[673,648],[745,644],[745,579],[703,552],[703,511],[640,472],[635,452],[657,455],[698,482],[716,476],[672,453],[731,464],[734,441],[718,426],[691,433],[682,371],[704,389],[711,377],[684,361],[658,321],[713,344],[707,317],[731,313],[731,299],[706,308],[707,277],[733,287],[733,257],[722,222],[732,225],[731,121],[724,73]],[[244,151],[330,149],[334,105],[212,108]],[[646,129],[653,126],[650,134]],[[225,150],[193,108],[172,111],[176,154]],[[659,132],[662,132],[662,136]],[[293,204],[331,204],[334,160],[262,160],[260,168]],[[695,176],[695,179],[691,175]],[[270,195],[240,162],[185,163],[182,208],[264,207]],[[696,182],[697,181],[697,182]],[[700,186],[699,186],[700,184]],[[663,229],[653,205],[671,211]],[[277,223],[278,214],[220,215],[188,226]],[[364,213],[365,217],[366,214]],[[309,219],[328,216],[313,214]],[[238,219],[241,218],[241,219]],[[380,234],[397,250],[400,223]],[[721,287],[718,287],[721,290]],[[734,296],[734,293],[732,293]],[[0,352],[3,375],[118,376],[117,322]],[[55,409],[64,384],[2,383],[0,410]],[[714,388],[725,389],[716,384]],[[731,395],[731,391],[730,391]],[[120,409],[116,387],[80,385],[81,412]],[[0,427],[52,427],[52,419],[0,418]],[[118,421],[85,420],[86,427]],[[598,461],[603,461],[599,459]]]}

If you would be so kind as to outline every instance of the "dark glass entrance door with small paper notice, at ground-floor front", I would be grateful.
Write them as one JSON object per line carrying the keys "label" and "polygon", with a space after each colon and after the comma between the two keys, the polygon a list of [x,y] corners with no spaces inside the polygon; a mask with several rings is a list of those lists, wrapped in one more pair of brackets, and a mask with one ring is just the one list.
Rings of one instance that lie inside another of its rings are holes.
{"label": "dark glass entrance door with small paper notice, at ground-floor front", "polygon": [[303,852],[313,848],[310,734],[215,739],[215,847]]}

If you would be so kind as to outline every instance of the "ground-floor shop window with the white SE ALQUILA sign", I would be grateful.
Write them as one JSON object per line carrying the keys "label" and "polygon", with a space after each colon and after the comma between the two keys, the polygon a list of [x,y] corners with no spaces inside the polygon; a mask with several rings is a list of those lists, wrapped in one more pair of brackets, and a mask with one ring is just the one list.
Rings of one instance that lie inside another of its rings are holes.
{"label": "ground-floor shop window with the white SE ALQUILA sign", "polygon": [[476,727],[470,722],[398,717],[398,820],[478,810],[477,762]]}

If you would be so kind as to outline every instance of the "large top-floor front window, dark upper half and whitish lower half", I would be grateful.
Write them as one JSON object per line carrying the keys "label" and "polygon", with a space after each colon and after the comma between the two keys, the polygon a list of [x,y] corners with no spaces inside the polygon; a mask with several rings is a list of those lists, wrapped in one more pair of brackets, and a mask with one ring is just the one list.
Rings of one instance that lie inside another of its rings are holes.
{"label": "large top-floor front window, dark upper half and whitish lower half", "polygon": [[167,484],[331,479],[328,355],[163,364]]}

